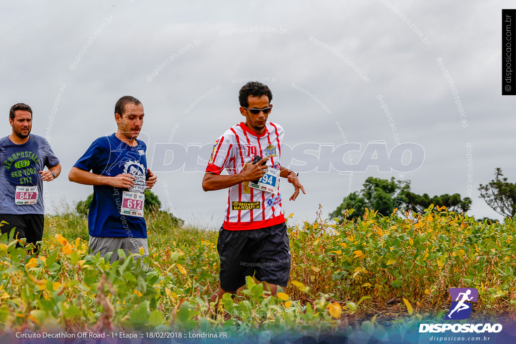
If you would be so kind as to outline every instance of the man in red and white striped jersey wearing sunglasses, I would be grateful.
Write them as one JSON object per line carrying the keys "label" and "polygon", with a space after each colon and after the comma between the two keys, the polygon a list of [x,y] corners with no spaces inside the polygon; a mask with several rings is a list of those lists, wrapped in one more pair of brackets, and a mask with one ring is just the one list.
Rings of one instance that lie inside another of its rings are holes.
{"label": "man in red and white striped jersey wearing sunglasses", "polygon": [[[290,200],[296,200],[299,190],[305,193],[297,174],[280,165],[284,132],[280,125],[267,122],[270,89],[251,81],[240,89],[238,100],[246,122],[215,141],[202,181],[204,191],[229,188],[217,242],[220,288],[210,299],[217,304],[224,293],[236,293],[248,275],[265,282],[273,296],[278,286],[286,287],[291,254],[278,177],[293,184]],[[227,175],[221,175],[224,169]]]}

